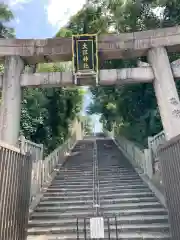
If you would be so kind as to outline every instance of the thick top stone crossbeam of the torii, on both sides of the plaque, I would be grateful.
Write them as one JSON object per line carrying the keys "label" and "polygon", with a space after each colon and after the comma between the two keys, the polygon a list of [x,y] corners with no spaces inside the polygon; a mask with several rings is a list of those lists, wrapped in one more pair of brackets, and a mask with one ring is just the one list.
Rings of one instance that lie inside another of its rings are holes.
{"label": "thick top stone crossbeam of the torii, on both sides of the plaque", "polygon": [[[180,27],[98,36],[101,61],[147,55],[149,49],[166,47],[180,52]],[[72,60],[71,38],[1,39],[0,58],[20,56],[28,64]]]}

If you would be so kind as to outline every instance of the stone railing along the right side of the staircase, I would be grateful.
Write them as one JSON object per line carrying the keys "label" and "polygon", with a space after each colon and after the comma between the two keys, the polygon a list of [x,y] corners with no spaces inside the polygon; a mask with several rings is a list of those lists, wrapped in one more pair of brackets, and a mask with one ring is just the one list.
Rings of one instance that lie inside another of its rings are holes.
{"label": "stone railing along the right side of the staircase", "polygon": [[[112,132],[106,132],[106,135],[114,139],[115,143],[118,145],[127,159],[131,162],[133,167],[140,174],[146,176],[151,181],[151,183],[162,193],[162,195],[164,195],[161,167],[159,158],[157,157],[158,146],[165,142],[163,132],[150,138],[151,148],[147,149],[140,149],[135,143],[127,140],[122,136],[114,136]],[[158,168],[156,162],[158,163]],[[164,199],[161,200],[163,204],[165,204]]]}

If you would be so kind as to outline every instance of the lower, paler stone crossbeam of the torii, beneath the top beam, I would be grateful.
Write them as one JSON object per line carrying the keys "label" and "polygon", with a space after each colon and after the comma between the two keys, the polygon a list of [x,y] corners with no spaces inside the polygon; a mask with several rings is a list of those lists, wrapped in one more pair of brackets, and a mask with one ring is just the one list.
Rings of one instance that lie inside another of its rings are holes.
{"label": "lower, paler stone crossbeam of the torii, beneath the top beam", "polygon": [[[180,78],[180,65],[172,63],[172,72],[175,79]],[[153,82],[154,73],[152,67],[104,69],[100,70],[99,84],[105,86],[138,84]],[[89,85],[85,80],[84,86]],[[0,74],[0,88],[3,85],[3,74]],[[20,75],[21,87],[63,87],[74,85],[72,72],[44,72],[44,73],[23,73]]]}

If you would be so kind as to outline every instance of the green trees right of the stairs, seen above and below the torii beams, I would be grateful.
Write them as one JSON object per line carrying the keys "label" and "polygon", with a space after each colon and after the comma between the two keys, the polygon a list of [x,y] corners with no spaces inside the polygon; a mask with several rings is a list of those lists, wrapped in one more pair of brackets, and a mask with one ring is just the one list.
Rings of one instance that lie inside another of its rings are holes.
{"label": "green trees right of the stairs, seen above and below the torii beams", "polygon": [[[122,33],[174,26],[180,23],[180,1],[97,1],[89,0],[71,17],[65,36],[83,33]],[[62,29],[60,30],[60,32]],[[178,54],[169,56],[177,59]],[[145,57],[111,60],[100,63],[100,69],[136,67]],[[180,89],[179,86],[178,90]],[[89,114],[101,114],[104,128],[121,133],[143,145],[147,137],[162,130],[157,101],[152,84],[125,85],[122,87],[91,87],[93,103]]]}

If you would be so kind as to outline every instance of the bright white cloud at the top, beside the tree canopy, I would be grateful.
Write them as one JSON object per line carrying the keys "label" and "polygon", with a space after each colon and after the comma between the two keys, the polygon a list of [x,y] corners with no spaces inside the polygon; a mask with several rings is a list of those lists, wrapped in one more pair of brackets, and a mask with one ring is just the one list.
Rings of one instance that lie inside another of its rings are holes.
{"label": "bright white cloud at the top, beside the tree canopy", "polygon": [[48,0],[48,5],[45,8],[48,22],[57,28],[64,26],[85,2],[86,0]]}

